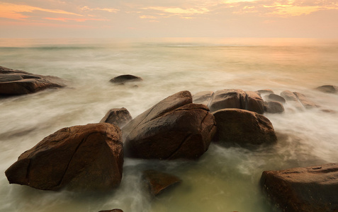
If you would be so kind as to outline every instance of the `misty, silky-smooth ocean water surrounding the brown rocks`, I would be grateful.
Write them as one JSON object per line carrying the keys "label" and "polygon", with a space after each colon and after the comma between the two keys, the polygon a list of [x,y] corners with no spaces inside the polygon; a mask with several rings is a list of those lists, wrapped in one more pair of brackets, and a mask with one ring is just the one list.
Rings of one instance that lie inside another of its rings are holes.
{"label": "misty, silky-smooth ocean water surrounding the brown rocks", "polygon": [[[67,80],[67,88],[0,100],[0,211],[278,211],[259,189],[264,170],[338,162],[338,40],[290,38],[0,39],[0,66]],[[120,74],[144,81],[116,86]],[[133,117],[180,90],[269,88],[297,91],[320,105],[265,114],[278,143],[249,151],[211,144],[198,161],[125,158],[123,181],[108,193],[48,192],[9,184],[19,155],[65,126],[96,123],[111,108]],[[322,109],[337,113],[323,112]],[[142,170],[170,172],[182,183],[152,198]]]}

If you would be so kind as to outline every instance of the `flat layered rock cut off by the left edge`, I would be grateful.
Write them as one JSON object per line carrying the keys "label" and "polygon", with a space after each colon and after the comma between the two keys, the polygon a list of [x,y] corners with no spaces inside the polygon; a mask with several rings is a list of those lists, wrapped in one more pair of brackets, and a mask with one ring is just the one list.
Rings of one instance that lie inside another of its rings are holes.
{"label": "flat layered rock cut off by the left edge", "polygon": [[64,86],[62,79],[56,76],[43,76],[0,66],[0,95],[23,95]]}

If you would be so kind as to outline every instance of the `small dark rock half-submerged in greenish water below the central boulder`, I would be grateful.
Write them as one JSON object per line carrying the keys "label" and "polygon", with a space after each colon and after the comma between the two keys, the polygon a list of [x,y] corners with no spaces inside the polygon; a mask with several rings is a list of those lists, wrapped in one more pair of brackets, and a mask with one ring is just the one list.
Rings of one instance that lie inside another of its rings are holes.
{"label": "small dark rock half-submerged in greenish water below the central boulder", "polygon": [[147,183],[147,188],[154,196],[162,194],[165,190],[181,182],[179,177],[156,170],[145,170],[143,177]]}

